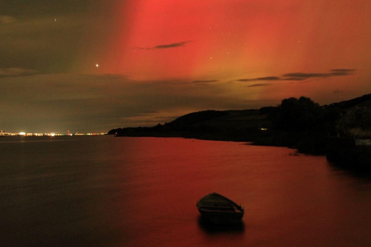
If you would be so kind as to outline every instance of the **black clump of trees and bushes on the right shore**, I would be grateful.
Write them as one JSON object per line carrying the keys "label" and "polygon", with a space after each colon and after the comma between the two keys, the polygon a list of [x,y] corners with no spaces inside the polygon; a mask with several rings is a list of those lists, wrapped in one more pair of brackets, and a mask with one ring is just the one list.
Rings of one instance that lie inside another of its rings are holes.
{"label": "black clump of trees and bushes on the right shore", "polygon": [[[371,138],[371,95],[319,106],[306,97],[283,99],[268,116],[272,128],[255,145],[288,146],[306,154],[325,154],[326,137]],[[358,104],[366,103],[365,106]]]}

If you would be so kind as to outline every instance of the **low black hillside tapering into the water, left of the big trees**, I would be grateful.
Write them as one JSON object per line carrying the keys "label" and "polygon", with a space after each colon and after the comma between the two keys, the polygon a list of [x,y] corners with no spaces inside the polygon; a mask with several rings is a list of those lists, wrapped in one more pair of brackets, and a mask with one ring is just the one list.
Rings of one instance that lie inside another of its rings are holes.
{"label": "low black hillside tapering into the water, left of the big trees", "polygon": [[[272,109],[270,109],[272,110]],[[255,132],[257,128],[268,128],[269,109],[263,110],[229,110],[229,111],[200,111],[181,116],[174,121],[158,124],[152,127],[127,127],[112,129],[108,134],[124,136],[184,136],[203,139],[246,141],[241,131]],[[232,132],[236,132],[233,134]],[[218,137],[215,133],[219,133]],[[235,137],[233,137],[235,136]]]}

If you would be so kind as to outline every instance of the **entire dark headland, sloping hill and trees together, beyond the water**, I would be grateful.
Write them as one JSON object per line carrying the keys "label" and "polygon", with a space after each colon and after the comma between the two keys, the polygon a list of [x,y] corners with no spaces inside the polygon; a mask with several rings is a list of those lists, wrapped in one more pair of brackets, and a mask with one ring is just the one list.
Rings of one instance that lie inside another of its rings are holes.
{"label": "entire dark headland, sloping hill and trees together, beyond the water", "polygon": [[371,136],[370,106],[371,94],[324,106],[306,97],[288,98],[276,107],[193,112],[163,125],[118,128],[108,134],[248,141],[325,154],[328,135]]}

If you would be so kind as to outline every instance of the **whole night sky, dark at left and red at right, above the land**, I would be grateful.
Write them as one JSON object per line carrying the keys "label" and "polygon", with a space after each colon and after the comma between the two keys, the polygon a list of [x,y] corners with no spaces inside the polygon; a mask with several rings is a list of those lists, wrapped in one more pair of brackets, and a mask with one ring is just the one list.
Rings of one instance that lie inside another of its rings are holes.
{"label": "whole night sky, dark at left and red at right, above the land", "polygon": [[107,132],[371,93],[371,1],[0,1],[0,129]]}

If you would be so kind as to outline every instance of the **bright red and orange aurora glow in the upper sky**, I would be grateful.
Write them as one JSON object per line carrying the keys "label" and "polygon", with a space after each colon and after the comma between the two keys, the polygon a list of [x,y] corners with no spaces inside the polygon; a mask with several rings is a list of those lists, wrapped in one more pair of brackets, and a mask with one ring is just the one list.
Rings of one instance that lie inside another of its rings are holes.
{"label": "bright red and orange aurora glow in the upper sky", "polygon": [[[134,1],[118,4],[102,72],[233,80],[368,69],[368,1]],[[184,43],[182,43],[184,42]],[[178,43],[177,47],[153,48]]]}

